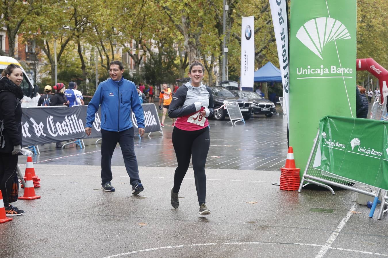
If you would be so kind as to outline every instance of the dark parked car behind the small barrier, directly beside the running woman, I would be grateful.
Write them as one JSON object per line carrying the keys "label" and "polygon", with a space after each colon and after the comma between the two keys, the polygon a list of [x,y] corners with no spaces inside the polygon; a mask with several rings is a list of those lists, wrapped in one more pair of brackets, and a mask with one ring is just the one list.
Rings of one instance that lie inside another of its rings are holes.
{"label": "dark parked car behind the small barrier, directly beside the running woman", "polygon": [[[253,102],[248,101],[246,99],[241,99],[239,97],[234,96],[232,92],[228,91],[224,87],[210,87],[211,92],[213,94],[213,102],[214,109],[220,108],[223,105],[223,101],[227,99],[235,99],[237,103],[239,103],[240,111],[244,120],[248,120],[252,116],[252,104]],[[227,111],[224,108],[221,108],[217,111],[214,111],[213,118],[215,120],[224,120],[227,115]]]}

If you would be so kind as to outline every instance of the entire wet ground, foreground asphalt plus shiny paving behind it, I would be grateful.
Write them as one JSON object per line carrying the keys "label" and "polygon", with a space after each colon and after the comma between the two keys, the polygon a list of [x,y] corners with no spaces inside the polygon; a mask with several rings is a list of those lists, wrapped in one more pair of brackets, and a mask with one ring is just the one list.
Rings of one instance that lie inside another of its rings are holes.
{"label": "entire wet ground, foreground asphalt plus shiny paving behind it", "polygon": [[[0,224],[0,257],[388,256],[388,219],[369,219],[369,209],[355,204],[357,193],[297,193],[272,184],[279,183],[287,153],[283,116],[210,126],[210,215],[197,215],[191,168],[179,208],[170,205],[176,161],[172,127],[166,126],[163,137],[135,139],[145,186],[139,196],[130,194],[119,148],[112,160],[115,192],[100,189],[100,145],[35,156],[42,185],[36,194],[42,198],[17,201],[25,214]],[[24,171],[25,158],[19,163]]]}

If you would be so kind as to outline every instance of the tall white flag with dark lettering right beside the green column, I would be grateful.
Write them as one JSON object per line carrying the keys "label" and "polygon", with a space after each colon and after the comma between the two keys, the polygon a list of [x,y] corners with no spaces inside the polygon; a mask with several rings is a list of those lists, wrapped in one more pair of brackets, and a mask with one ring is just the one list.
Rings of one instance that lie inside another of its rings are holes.
{"label": "tall white flag with dark lettering right beside the green column", "polygon": [[284,107],[289,122],[289,55],[288,55],[288,24],[287,0],[269,0],[274,24],[277,55],[279,57],[280,72],[282,75]]}

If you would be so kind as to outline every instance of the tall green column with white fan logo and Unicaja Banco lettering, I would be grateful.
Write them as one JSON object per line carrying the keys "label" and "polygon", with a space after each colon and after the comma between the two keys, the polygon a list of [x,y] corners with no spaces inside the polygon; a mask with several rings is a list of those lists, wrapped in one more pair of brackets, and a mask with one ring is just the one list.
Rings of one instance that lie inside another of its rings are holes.
{"label": "tall green column with white fan logo and Unicaja Banco lettering", "polygon": [[289,142],[303,174],[320,118],[356,116],[356,0],[291,1],[290,18]]}

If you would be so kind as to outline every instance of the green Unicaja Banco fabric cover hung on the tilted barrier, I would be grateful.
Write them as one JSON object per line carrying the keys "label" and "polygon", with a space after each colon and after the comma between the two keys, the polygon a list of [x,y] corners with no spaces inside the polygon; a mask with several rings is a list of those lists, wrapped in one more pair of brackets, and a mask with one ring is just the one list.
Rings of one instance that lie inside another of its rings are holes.
{"label": "green Unicaja Banco fabric cover hung on the tilted barrier", "polygon": [[315,168],[388,190],[388,121],[326,116],[319,143]]}

